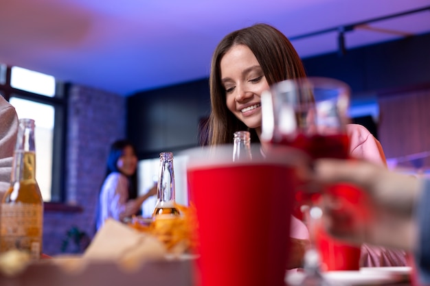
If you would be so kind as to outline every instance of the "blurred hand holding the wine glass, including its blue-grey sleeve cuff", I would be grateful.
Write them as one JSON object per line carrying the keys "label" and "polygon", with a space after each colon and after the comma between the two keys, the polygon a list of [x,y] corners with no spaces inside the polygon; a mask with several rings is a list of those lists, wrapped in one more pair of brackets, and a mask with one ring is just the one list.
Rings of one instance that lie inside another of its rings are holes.
{"label": "blurred hand holding the wine glass, including its blue-grey sleeve cuff", "polygon": [[329,233],[356,243],[370,242],[414,252],[418,284],[430,285],[428,178],[398,174],[358,160],[317,160],[314,171],[310,173],[309,178],[314,183],[352,182],[358,185],[368,195],[371,203],[368,206],[375,215],[364,224],[358,224],[361,229],[348,228],[342,224],[348,213],[339,212],[330,200],[325,201],[324,226]]}

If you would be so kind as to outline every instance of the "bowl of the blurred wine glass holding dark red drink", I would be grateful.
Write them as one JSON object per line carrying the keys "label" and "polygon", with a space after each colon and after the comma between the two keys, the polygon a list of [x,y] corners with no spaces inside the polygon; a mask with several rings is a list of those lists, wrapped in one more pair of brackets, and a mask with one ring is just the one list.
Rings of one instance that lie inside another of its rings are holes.
{"label": "bowl of the blurred wine glass holding dark red drink", "polygon": [[312,158],[348,158],[350,88],[330,78],[286,80],[262,94],[262,140]]}

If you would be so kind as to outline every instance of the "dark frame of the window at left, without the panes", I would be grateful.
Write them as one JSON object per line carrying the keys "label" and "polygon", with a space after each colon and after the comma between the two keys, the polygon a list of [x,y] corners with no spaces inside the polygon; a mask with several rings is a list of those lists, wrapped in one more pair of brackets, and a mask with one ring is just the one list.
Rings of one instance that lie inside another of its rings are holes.
{"label": "dark frame of the window at left, without the panes", "polygon": [[[52,187],[49,203],[65,203],[67,193],[66,182],[66,149],[67,149],[67,91],[69,84],[56,80],[55,95],[48,97],[11,86],[12,67],[0,64],[0,92],[9,102],[11,97],[26,99],[32,102],[47,104],[54,107],[54,129],[52,139]],[[47,203],[45,202],[45,203]]]}

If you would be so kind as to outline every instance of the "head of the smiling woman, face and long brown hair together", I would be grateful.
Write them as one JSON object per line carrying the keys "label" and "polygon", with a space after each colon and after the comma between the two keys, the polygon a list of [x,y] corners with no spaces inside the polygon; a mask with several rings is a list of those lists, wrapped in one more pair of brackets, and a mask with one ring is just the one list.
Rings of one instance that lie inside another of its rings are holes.
{"label": "head of the smiling woman, face and long brown hair together", "polygon": [[208,143],[233,143],[238,130],[249,130],[251,142],[260,142],[261,92],[304,76],[302,60],[278,29],[259,24],[225,36],[212,56]]}

